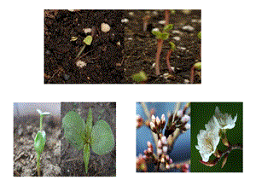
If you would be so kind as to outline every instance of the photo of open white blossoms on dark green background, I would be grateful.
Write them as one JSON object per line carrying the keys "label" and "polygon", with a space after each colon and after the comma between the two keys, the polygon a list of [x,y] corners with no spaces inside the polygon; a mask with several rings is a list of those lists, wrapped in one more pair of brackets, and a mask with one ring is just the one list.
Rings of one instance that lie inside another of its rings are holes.
{"label": "photo of open white blossoms on dark green background", "polygon": [[193,102],[191,108],[191,170],[242,172],[242,103]]}

